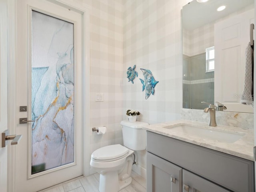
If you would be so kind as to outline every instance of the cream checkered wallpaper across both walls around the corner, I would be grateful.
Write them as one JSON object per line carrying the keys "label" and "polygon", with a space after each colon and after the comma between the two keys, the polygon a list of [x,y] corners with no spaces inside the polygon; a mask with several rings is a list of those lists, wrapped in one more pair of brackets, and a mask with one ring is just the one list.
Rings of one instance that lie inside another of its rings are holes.
{"label": "cream checkered wallpaper across both walls around the corner", "polygon": [[[102,146],[122,144],[120,122],[127,119],[128,109],[139,110],[138,120],[150,124],[180,118],[180,17],[182,6],[191,0],[70,1],[91,8],[89,129],[107,127],[104,135],[91,132],[91,153]],[[139,76],[132,84],[126,71],[134,64]],[[147,100],[139,80],[143,79],[140,68],[151,70],[159,81]],[[98,93],[104,94],[104,102],[95,102]],[[138,161],[145,169],[146,151],[138,153]]]}

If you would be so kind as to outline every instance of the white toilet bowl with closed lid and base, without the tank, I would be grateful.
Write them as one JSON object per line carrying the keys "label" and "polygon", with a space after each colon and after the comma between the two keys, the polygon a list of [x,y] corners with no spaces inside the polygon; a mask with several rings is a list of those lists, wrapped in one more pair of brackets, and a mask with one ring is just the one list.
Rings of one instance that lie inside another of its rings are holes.
{"label": "white toilet bowl with closed lid and base, without the tank", "polygon": [[109,145],[92,153],[90,165],[100,174],[100,192],[118,192],[132,182],[132,154],[120,144]]}

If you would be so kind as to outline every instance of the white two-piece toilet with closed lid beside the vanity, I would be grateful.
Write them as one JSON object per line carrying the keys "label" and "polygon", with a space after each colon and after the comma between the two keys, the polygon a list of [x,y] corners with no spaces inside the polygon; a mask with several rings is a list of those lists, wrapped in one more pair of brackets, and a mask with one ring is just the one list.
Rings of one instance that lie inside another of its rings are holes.
{"label": "white two-piece toilet with closed lid beside the vanity", "polygon": [[104,146],[91,155],[90,165],[100,174],[100,192],[118,192],[132,182],[134,150],[146,149],[146,122],[121,122],[124,146]]}

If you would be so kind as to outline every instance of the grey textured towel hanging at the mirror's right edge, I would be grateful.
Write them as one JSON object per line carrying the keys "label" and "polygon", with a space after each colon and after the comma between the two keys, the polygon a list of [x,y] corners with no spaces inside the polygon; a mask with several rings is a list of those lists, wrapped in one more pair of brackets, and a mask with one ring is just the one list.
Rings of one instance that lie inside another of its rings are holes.
{"label": "grey textured towel hanging at the mirror's right edge", "polygon": [[245,105],[253,107],[253,49],[249,44],[245,51],[246,63],[245,63],[245,79],[244,79],[244,91],[241,96],[240,102]]}

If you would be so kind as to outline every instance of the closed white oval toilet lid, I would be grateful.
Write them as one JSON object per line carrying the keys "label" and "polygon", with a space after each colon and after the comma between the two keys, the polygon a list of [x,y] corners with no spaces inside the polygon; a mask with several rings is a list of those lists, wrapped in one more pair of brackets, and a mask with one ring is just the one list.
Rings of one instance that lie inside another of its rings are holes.
{"label": "closed white oval toilet lid", "polygon": [[95,150],[92,153],[92,158],[95,160],[116,160],[122,156],[125,156],[129,152],[129,149],[120,145],[109,145]]}

